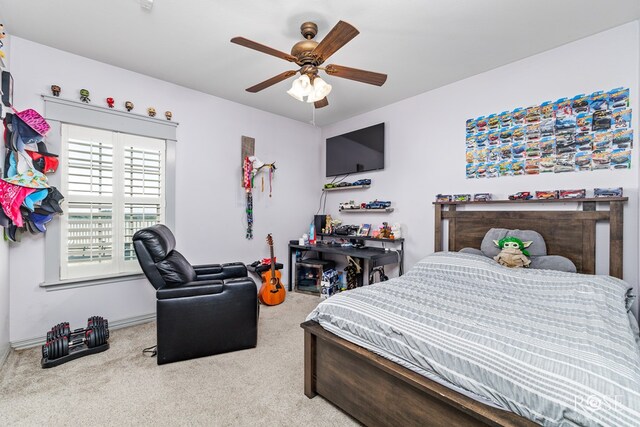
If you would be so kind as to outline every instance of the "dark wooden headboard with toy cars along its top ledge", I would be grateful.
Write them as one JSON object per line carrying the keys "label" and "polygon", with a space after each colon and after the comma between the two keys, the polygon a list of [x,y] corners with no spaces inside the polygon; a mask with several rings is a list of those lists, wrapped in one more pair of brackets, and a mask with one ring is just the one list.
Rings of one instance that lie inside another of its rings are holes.
{"label": "dark wooden headboard with toy cars along its top ledge", "polygon": [[[549,255],[562,255],[579,273],[596,271],[596,222],[609,222],[609,275],[622,279],[623,205],[627,197],[562,200],[494,200],[488,202],[435,202],[435,251],[443,248],[443,221],[449,225],[449,250],[480,248],[490,228],[535,230],[542,235]],[[487,204],[567,203],[582,210],[457,210],[458,205],[477,208]],[[609,210],[596,210],[606,203]]]}

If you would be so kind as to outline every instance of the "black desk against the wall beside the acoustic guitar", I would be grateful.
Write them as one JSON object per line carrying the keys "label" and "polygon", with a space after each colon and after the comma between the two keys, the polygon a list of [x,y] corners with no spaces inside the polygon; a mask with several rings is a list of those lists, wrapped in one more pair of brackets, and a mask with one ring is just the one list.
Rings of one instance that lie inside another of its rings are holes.
{"label": "black desk against the wall beside the acoustic guitar", "polygon": [[[347,237],[347,236],[345,236]],[[357,237],[353,237],[357,238]],[[398,242],[402,243],[402,242]],[[404,271],[404,247],[398,251],[396,250],[385,250],[384,248],[375,248],[370,246],[365,246],[363,248],[354,248],[354,247],[344,247],[340,245],[330,245],[326,243],[317,243],[315,245],[300,245],[297,240],[289,241],[289,267],[288,267],[288,288],[289,291],[293,289],[293,275],[292,275],[292,263],[291,256],[295,253],[295,251],[312,251],[318,252],[319,254],[327,253],[327,254],[335,254],[342,256],[350,256],[353,258],[360,258],[365,260],[365,266],[363,271],[363,277],[368,280],[370,269],[373,267],[378,267],[381,265],[388,264],[400,264],[400,274]]]}

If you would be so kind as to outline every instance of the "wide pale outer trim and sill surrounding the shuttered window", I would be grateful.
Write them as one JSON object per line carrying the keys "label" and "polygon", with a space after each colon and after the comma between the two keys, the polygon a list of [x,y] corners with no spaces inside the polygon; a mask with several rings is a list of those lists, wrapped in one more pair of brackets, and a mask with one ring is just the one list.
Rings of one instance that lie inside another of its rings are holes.
{"label": "wide pale outer trim and sill surrounding the shuttered window", "polygon": [[[130,135],[138,135],[162,139],[165,147],[165,211],[163,223],[175,230],[175,197],[176,197],[176,165],[175,153],[177,143],[177,126],[174,121],[151,118],[141,114],[126,111],[98,107],[92,104],[61,99],[42,95],[44,100],[44,117],[51,126],[47,134],[47,148],[54,153],[62,152],[62,124],[78,125],[82,127],[103,129],[112,132],[120,132]],[[62,168],[60,168],[62,169]],[[63,189],[63,173],[57,173],[48,177],[49,184]],[[62,192],[64,195],[65,193]],[[62,209],[65,204],[62,203]],[[64,216],[64,214],[63,214]],[[122,272],[110,274],[97,274],[94,277],[61,279],[61,240],[63,238],[62,223],[60,217],[47,224],[45,233],[44,256],[44,281],[40,283],[46,290],[60,290],[75,287],[105,285],[115,282],[138,280],[144,276],[139,272]],[[122,219],[124,220],[124,218]],[[65,235],[66,236],[66,235]],[[136,262],[137,263],[137,262]]]}

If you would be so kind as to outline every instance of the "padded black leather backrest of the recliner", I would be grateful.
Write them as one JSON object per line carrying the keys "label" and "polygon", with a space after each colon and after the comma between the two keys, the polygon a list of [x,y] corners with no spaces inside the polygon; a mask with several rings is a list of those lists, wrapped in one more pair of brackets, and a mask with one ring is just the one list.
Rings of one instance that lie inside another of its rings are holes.
{"label": "padded black leather backrest of the recliner", "polygon": [[191,282],[196,272],[189,262],[176,251],[176,240],[169,228],[162,224],[137,231],[133,247],[138,262],[154,288],[177,286]]}

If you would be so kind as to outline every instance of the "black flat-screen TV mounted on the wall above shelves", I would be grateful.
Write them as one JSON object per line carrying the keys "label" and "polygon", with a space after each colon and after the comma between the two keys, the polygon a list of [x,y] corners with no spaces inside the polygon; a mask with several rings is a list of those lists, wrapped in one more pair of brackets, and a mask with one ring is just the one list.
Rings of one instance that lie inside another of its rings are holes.
{"label": "black flat-screen TV mounted on the wall above shelves", "polygon": [[384,169],[384,123],[327,138],[327,176]]}

